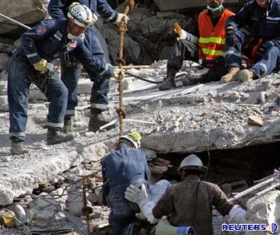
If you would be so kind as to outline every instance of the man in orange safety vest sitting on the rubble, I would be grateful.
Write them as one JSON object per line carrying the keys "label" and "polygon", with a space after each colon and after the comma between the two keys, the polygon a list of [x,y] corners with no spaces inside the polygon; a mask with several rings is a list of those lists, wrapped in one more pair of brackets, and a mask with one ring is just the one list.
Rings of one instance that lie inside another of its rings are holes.
{"label": "man in orange safety vest sitting on the rubble", "polygon": [[[172,56],[167,62],[167,77],[165,83],[159,86],[160,90],[169,90],[174,87],[174,78],[182,67],[184,59],[198,62],[209,68],[201,78],[186,78],[184,85],[209,83],[220,80],[227,70],[222,57],[225,50],[225,23],[234,15],[223,7],[224,0],[207,0],[207,10],[200,13],[198,18],[198,32],[195,35],[184,31],[179,24],[174,25],[179,41],[174,44]],[[196,30],[197,31],[197,30]]]}

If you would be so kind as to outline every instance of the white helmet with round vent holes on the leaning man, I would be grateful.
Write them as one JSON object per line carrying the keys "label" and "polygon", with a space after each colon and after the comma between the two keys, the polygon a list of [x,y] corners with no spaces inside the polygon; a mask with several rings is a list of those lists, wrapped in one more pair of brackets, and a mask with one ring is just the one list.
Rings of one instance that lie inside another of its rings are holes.
{"label": "white helmet with round vent holes on the leaning man", "polygon": [[91,27],[97,22],[97,15],[92,13],[90,8],[80,3],[72,4],[67,16],[80,27]]}

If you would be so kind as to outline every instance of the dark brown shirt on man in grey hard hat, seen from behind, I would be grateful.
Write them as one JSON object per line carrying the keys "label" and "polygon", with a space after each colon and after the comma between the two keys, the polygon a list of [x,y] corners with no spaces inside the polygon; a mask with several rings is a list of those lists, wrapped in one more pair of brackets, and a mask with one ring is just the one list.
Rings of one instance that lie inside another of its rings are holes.
{"label": "dark brown shirt on man in grey hard hat, seen from behind", "polygon": [[225,193],[213,183],[201,181],[198,176],[169,187],[153,208],[157,219],[169,216],[174,226],[193,226],[197,235],[213,234],[212,206],[227,215],[234,204],[227,201]]}

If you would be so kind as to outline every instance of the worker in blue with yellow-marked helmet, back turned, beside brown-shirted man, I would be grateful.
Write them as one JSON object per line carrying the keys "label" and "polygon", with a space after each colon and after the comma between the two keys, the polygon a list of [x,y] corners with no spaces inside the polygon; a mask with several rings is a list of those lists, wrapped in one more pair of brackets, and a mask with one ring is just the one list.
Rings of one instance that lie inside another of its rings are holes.
{"label": "worker in blue with yellow-marked helmet, back turned, beside brown-shirted man", "polygon": [[104,196],[111,207],[109,222],[113,235],[130,235],[133,230],[135,214],[140,213],[139,206],[125,199],[125,190],[132,184],[146,188],[146,195],[155,204],[169,188],[167,180],[151,185],[147,183],[151,171],[146,162],[144,150],[139,150],[141,136],[136,131],[120,136],[116,150],[102,160],[102,174],[105,186]]}

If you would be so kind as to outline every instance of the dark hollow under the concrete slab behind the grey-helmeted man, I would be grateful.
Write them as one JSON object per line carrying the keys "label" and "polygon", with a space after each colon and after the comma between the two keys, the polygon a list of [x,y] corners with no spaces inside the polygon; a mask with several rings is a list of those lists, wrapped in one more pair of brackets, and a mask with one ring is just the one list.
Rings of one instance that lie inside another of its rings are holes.
{"label": "dark hollow under the concrete slab behind the grey-helmeted man", "polygon": [[[209,159],[209,171],[206,180],[216,183],[219,186],[232,183],[232,192],[240,190],[242,183],[246,181],[248,186],[253,184],[254,180],[259,180],[273,173],[274,169],[280,166],[280,143],[268,143],[262,145],[253,145],[246,148],[235,150],[211,150],[209,153],[195,153],[202,159],[204,166],[207,166]],[[160,154],[158,157],[167,159],[173,165],[168,171],[158,176],[167,180],[181,181],[181,176],[176,169],[179,168],[181,161],[189,153],[167,153]],[[209,157],[210,155],[210,157]],[[157,178],[156,176],[154,176]],[[234,184],[234,182],[239,182]]]}

